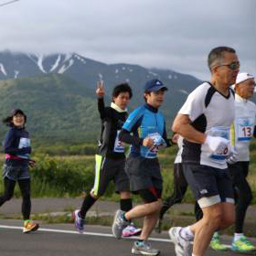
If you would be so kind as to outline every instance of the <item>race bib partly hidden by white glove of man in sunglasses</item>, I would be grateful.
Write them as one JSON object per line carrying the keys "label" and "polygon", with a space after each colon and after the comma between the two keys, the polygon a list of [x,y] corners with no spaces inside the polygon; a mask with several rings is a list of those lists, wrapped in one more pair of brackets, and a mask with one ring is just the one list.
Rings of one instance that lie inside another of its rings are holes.
{"label": "race bib partly hidden by white glove of man in sunglasses", "polygon": [[[229,128],[222,126],[213,127],[208,132],[208,135],[213,137],[222,137],[224,139],[229,140]],[[219,149],[219,151],[215,152],[214,154],[209,155],[209,158],[211,158],[212,160],[223,161],[226,159],[228,154],[229,148],[226,146]]]}

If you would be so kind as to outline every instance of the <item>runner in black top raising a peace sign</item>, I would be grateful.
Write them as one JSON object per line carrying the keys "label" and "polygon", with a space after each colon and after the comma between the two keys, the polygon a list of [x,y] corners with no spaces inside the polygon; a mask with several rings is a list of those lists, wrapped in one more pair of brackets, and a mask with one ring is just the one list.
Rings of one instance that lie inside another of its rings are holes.
{"label": "runner in black top raising a peace sign", "polygon": [[[94,187],[91,189],[91,193],[84,198],[81,208],[75,210],[72,215],[75,227],[80,233],[84,229],[87,211],[105,193],[112,180],[115,184],[115,191],[120,194],[120,208],[123,211],[129,211],[133,208],[129,179],[124,172],[124,145],[118,139],[123,123],[127,118],[126,107],[133,96],[133,92],[127,83],[117,85],[112,91],[111,107],[105,107],[103,81],[98,82],[97,86],[98,110],[101,115],[101,139],[98,154],[95,156]],[[141,229],[137,229],[133,222],[130,222],[127,228],[123,230],[123,236],[139,235],[140,232]]]}

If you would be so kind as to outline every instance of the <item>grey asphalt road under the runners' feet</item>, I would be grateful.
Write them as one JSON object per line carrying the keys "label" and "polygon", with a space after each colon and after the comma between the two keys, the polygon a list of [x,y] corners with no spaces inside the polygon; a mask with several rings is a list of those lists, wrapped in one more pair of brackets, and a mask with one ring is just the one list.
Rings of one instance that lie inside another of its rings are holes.
{"label": "grey asphalt road under the runners' feet", "polygon": [[[83,235],[78,234],[71,224],[41,224],[36,232],[23,234],[20,220],[0,220],[1,256],[112,256],[131,255],[132,239],[116,240],[109,227],[86,226]],[[152,236],[152,244],[161,250],[162,256],[175,256],[174,245],[167,233]],[[224,238],[226,242],[229,237]],[[208,256],[240,255],[232,251],[208,250]],[[255,255],[255,254],[254,254]]]}

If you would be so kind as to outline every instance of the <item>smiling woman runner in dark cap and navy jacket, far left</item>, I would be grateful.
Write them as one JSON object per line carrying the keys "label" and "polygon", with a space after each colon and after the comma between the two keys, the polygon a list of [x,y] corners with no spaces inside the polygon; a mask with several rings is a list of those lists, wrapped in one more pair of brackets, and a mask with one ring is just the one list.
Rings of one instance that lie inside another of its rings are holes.
{"label": "smiling woman runner in dark cap and navy jacket, far left", "polygon": [[22,110],[16,109],[3,122],[10,126],[10,129],[5,134],[5,164],[3,166],[5,193],[0,197],[0,206],[13,197],[17,181],[22,196],[23,233],[36,231],[39,225],[30,219],[31,200],[28,165],[34,166],[35,161],[29,159],[31,145],[29,134],[25,130],[27,116]]}

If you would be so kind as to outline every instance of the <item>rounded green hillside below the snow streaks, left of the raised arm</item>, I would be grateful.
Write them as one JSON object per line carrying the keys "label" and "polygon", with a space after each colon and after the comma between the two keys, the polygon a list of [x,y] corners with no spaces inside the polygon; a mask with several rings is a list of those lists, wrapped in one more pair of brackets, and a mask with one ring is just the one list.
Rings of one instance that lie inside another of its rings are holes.
{"label": "rounded green hillside below the snow streaks, left of the raised arm", "polygon": [[94,91],[59,74],[0,81],[1,118],[14,108],[27,113],[27,129],[37,139],[95,141],[99,131]]}

